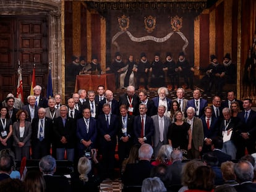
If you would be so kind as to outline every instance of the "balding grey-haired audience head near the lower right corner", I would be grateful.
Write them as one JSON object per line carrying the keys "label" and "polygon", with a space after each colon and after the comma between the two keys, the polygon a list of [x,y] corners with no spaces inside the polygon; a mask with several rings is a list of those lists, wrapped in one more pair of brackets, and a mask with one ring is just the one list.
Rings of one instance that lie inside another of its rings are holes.
{"label": "balding grey-haired audience head near the lower right corner", "polygon": [[254,178],[254,167],[252,167],[249,161],[242,160],[234,165],[234,173],[238,183],[252,182]]}

